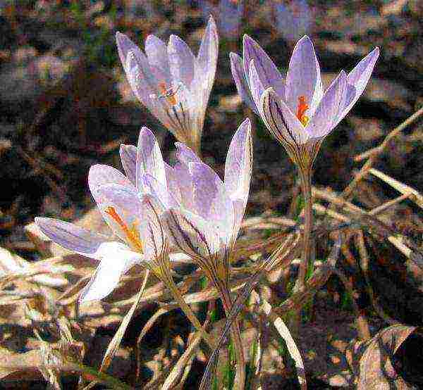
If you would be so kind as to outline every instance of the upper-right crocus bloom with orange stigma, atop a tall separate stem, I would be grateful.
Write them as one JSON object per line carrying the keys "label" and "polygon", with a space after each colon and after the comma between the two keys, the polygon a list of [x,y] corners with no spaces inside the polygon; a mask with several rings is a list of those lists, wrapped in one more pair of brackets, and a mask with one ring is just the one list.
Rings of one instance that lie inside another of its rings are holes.
{"label": "upper-right crocus bloom with orange stigma, atop a tall separate stem", "polygon": [[298,41],[284,79],[264,50],[244,36],[243,58],[231,53],[231,68],[243,100],[261,116],[300,170],[309,170],[321,141],[353,108],[369,81],[379,49],[374,49],[348,75],[341,70],[324,92],[314,47]]}

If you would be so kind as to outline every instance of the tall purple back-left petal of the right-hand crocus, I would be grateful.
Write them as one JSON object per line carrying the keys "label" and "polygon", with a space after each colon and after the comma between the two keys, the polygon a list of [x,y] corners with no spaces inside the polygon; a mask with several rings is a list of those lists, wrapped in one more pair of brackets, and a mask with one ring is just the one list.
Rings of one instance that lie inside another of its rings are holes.
{"label": "tall purple back-left petal of the right-hand crocus", "polygon": [[[271,61],[271,58],[266,54],[266,51],[264,51],[260,45],[248,35],[244,35],[243,42],[245,71],[248,72],[250,70],[250,63],[254,60],[255,68],[263,87],[273,87],[276,94],[283,99],[283,96],[285,96],[285,84],[283,82],[283,77],[278,68],[276,68],[274,62]],[[249,77],[248,73],[246,73],[246,77]]]}

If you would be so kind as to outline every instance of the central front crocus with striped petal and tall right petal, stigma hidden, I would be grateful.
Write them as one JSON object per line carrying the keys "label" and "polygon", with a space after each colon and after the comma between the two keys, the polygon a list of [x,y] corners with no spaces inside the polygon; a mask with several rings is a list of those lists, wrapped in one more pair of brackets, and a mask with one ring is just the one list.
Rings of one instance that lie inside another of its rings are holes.
{"label": "central front crocus with striped petal and tall right petal, stigma hidden", "polygon": [[250,190],[252,140],[246,119],[233,136],[224,181],[191,149],[176,144],[179,179],[177,208],[162,215],[173,244],[195,260],[217,283],[228,288],[229,257],[238,236]]}

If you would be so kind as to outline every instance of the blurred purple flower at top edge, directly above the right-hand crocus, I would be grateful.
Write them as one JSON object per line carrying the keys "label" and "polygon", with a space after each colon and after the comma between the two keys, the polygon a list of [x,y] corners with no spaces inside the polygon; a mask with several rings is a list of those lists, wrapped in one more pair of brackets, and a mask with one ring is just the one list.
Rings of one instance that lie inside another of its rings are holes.
{"label": "blurred purple flower at top edge, directly above the right-hand crocus", "polygon": [[289,42],[295,42],[310,28],[311,11],[306,0],[273,1],[276,28]]}

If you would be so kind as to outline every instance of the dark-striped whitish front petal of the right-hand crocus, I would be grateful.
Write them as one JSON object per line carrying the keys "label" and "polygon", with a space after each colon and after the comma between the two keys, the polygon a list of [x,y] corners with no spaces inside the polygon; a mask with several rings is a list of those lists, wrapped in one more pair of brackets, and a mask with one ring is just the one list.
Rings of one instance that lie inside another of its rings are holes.
{"label": "dark-striped whitish front petal of the right-hand crocus", "polygon": [[297,148],[307,142],[308,134],[304,126],[286,103],[278,99],[273,89],[264,91],[260,108],[266,127],[281,144]]}

